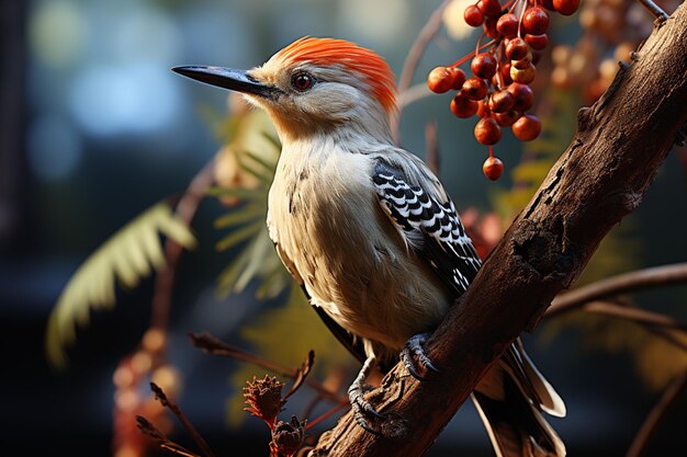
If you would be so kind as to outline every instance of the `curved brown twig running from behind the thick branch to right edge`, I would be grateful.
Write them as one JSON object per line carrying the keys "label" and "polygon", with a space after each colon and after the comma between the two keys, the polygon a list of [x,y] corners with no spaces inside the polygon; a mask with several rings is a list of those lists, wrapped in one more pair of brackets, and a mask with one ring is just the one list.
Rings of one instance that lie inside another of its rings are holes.
{"label": "curved brown twig running from behind the thick branch to right edge", "polygon": [[545,316],[558,316],[586,302],[613,295],[682,283],[687,283],[687,263],[638,270],[561,294],[553,299]]}

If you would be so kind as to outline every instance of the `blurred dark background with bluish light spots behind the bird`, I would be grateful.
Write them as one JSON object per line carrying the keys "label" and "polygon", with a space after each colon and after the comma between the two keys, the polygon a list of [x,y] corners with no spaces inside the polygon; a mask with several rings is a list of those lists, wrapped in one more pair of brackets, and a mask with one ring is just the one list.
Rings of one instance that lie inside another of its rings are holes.
{"label": "blurred dark background with bluish light spots behind the bird", "polygon": [[[251,115],[237,102],[228,103],[225,92],[184,80],[169,68],[194,64],[250,68],[295,38],[313,35],[373,48],[399,75],[408,49],[441,3],[0,1],[3,452],[135,455],[123,454],[122,441],[113,447],[113,437],[136,439],[126,438],[131,435],[123,432],[122,414],[131,410],[126,404],[148,397],[146,382],[139,386],[139,398],[127,397],[126,403],[120,395],[123,381],[116,376],[113,381],[113,375],[123,376],[117,372],[123,361],[136,355],[155,319],[154,279],[119,287],[116,307],[90,313],[90,323],[79,327],[76,344],[67,350],[66,369],[47,362],[45,332],[60,293],[89,254],[147,208],[178,198],[217,151],[226,152],[240,130],[232,123]],[[459,24],[468,3],[454,3],[421,57],[414,84],[421,84],[435,66],[451,64],[474,49],[477,34]],[[544,136],[539,145],[523,146],[504,135],[496,150],[506,163],[500,181],[484,179],[481,165],[486,151],[473,140],[474,119],[454,118],[448,95],[425,96],[418,85],[415,93],[420,99],[404,108],[402,145],[425,157],[426,126],[436,123],[432,150],[438,150],[441,178],[482,235],[498,238],[567,146],[577,107],[598,96],[594,91],[602,90],[609,72],[612,78],[608,59],[616,68],[613,53],[621,46],[631,49],[642,27],[651,31],[652,18],[629,2],[590,0],[588,4],[578,15],[553,22],[549,49],[554,53],[542,56],[541,82],[536,85],[534,112],[544,122]],[[600,14],[606,25],[589,14]],[[623,34],[626,28],[633,31],[631,36]],[[269,124],[260,125],[269,132]],[[227,157],[217,156],[225,171],[233,163]],[[527,163],[541,167],[521,167]],[[581,281],[685,261],[685,151],[676,150],[641,207],[613,230]],[[316,358],[316,366],[323,364],[317,376],[342,385],[352,379],[357,367],[352,357],[333,349],[335,340],[307,307],[292,312],[291,305],[284,305],[299,301],[289,287],[264,293],[260,289],[264,277],[259,275],[241,287],[225,284],[223,288],[222,281],[217,283],[244,252],[238,242],[222,248],[235,227],[217,222],[237,208],[245,206],[229,197],[209,197],[198,208],[192,222],[198,245],[184,252],[177,265],[164,368],[176,386],[178,402],[217,455],[268,455],[267,429],[240,411],[243,400],[237,397],[243,380],[263,376],[264,369],[203,354],[191,346],[188,332],[210,331],[291,366],[314,347],[324,357]],[[686,299],[684,286],[631,297],[634,305],[678,319],[687,318]],[[685,342],[682,333],[676,334]],[[551,422],[572,456],[624,455],[665,387],[687,368],[684,350],[651,336],[640,325],[610,318],[571,313],[545,320],[525,340],[567,403],[568,416]],[[333,375],[339,373],[334,367],[344,367],[344,374]],[[311,398],[305,390],[290,400],[284,419],[301,414]],[[318,408],[320,413],[328,409]],[[669,455],[679,448],[677,437],[687,430],[686,412],[683,392],[646,455]],[[158,423],[169,421],[158,419]],[[171,436],[192,447],[180,429],[176,426]],[[429,455],[493,455],[471,404],[461,409]]]}

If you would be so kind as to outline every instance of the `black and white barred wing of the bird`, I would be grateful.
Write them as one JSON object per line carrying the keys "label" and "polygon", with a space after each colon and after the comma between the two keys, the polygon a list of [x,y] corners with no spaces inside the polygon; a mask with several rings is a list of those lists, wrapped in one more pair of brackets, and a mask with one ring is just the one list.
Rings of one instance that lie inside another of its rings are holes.
{"label": "black and white barred wing of the bird", "polygon": [[408,244],[460,296],[481,260],[450,198],[440,202],[390,164],[379,161],[372,176],[380,203]]}

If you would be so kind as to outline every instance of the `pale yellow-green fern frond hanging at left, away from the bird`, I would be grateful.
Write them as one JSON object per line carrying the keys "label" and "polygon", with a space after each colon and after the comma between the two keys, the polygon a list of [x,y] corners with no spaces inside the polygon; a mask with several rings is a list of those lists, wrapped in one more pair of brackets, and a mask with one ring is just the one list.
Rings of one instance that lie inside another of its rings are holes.
{"label": "pale yellow-green fern frond hanging at left, away from the bird", "polygon": [[196,243],[189,227],[173,216],[166,203],[160,203],[114,233],[71,276],[47,325],[46,354],[55,367],[67,365],[65,346],[76,341],[76,325],[88,325],[92,309],[114,306],[117,281],[133,288],[165,266],[159,233],[187,249]]}

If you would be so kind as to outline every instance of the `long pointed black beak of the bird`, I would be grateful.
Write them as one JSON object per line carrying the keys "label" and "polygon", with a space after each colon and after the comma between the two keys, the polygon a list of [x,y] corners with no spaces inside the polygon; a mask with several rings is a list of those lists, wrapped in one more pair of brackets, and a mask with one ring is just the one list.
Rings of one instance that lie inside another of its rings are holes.
{"label": "long pointed black beak of the bird", "polygon": [[274,91],[277,91],[274,87],[256,81],[255,78],[245,70],[235,70],[224,67],[189,66],[174,67],[172,71],[206,84],[264,98],[270,98],[273,95]]}

